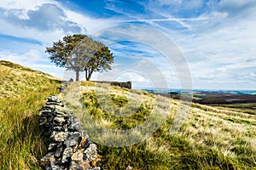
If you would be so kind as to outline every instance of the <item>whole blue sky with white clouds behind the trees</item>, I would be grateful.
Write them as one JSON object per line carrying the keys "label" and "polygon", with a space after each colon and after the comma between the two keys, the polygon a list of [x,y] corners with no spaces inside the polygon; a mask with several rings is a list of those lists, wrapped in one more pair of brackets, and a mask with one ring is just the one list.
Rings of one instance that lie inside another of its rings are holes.
{"label": "whole blue sky with white clouds behind the trees", "polygon": [[45,48],[85,34],[114,56],[92,80],[256,90],[255,20],[255,0],[1,0],[0,59],[68,79]]}

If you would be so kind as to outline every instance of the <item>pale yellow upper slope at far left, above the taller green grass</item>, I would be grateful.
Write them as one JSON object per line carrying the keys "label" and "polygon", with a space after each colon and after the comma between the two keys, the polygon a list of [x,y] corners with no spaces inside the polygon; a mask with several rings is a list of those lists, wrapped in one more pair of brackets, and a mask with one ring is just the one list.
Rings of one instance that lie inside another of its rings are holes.
{"label": "pale yellow upper slope at far left, above the taller green grass", "polygon": [[0,99],[17,97],[60,79],[9,61],[0,60]]}

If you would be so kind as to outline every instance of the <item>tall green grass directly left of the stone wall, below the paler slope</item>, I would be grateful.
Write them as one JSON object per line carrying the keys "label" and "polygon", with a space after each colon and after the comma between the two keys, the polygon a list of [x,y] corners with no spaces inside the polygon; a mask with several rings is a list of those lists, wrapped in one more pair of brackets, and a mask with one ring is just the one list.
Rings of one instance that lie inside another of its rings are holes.
{"label": "tall green grass directly left of the stone wall, below the paler slope", "polygon": [[0,100],[1,169],[39,169],[47,139],[39,129],[38,112],[46,97],[57,93],[58,82],[48,82],[14,99]]}

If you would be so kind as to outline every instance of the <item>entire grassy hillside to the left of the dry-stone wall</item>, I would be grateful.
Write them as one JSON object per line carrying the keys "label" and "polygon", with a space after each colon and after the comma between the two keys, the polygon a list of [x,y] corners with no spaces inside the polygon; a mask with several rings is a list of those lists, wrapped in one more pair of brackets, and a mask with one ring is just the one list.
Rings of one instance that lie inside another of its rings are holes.
{"label": "entire grassy hillside to the left of the dry-stone wall", "polygon": [[40,169],[46,145],[38,129],[38,111],[60,80],[0,60],[0,169]]}

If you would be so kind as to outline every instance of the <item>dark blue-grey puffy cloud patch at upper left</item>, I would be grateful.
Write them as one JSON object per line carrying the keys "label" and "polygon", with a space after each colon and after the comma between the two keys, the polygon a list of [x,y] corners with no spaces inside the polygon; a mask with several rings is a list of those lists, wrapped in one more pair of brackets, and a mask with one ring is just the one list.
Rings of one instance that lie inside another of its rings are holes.
{"label": "dark blue-grey puffy cloud patch at upper left", "polygon": [[13,26],[26,27],[30,29],[37,29],[38,31],[54,31],[63,30],[65,32],[81,32],[82,29],[70,20],[65,20],[67,15],[63,9],[55,4],[46,3],[38,7],[36,10],[28,10],[26,18],[20,18],[22,9],[8,9],[2,8],[1,19],[7,20]]}

